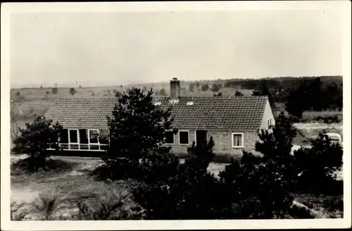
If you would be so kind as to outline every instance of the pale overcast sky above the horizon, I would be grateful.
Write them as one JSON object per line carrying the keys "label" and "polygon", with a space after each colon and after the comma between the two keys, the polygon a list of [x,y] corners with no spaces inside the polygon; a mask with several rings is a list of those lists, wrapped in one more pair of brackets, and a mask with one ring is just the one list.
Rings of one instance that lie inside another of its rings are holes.
{"label": "pale overcast sky above the horizon", "polygon": [[11,15],[11,87],[341,73],[337,11]]}

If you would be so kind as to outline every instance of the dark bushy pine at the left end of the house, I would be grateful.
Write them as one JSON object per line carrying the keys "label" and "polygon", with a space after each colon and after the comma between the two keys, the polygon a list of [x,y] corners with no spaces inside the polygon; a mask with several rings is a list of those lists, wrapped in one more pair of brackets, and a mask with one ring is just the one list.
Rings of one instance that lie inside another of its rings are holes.
{"label": "dark bushy pine at the left end of the house", "polygon": [[46,149],[59,150],[58,136],[63,127],[42,116],[25,126],[25,129],[19,128],[20,135],[13,140],[13,152],[27,154],[27,164],[31,170],[45,168],[46,158],[49,157]]}

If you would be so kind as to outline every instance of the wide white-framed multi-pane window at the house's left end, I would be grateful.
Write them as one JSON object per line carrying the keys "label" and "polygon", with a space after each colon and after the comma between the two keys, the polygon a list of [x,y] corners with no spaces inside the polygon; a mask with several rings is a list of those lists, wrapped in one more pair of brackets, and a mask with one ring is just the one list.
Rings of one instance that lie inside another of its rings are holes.
{"label": "wide white-framed multi-pane window at the house's left end", "polygon": [[64,129],[58,143],[64,150],[103,151],[109,144],[108,134],[108,129]]}

